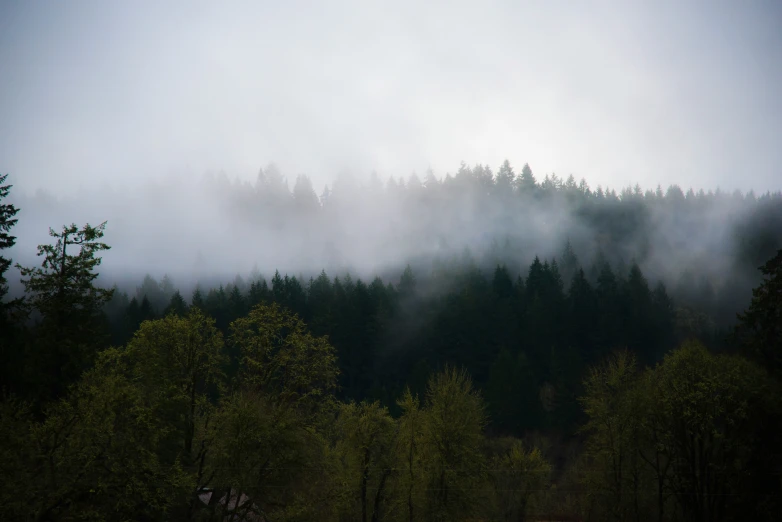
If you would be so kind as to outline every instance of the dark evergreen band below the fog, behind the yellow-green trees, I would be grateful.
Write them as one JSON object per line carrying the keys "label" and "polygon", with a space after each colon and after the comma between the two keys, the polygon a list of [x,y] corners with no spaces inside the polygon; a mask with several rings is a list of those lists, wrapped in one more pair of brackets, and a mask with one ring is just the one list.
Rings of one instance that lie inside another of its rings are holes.
{"label": "dark evergreen band below the fog, behind the yellow-green trees", "polygon": [[464,257],[420,278],[408,266],[396,285],[349,274],[332,280],[325,272],[304,284],[279,273],[271,284],[237,278],[196,288],[189,305],[170,278],[147,276],[132,298],[117,290],[109,304],[114,344],[126,343],[142,321],[188,306],[205,310],[227,333],[248,310],[272,303],[328,336],[340,398],[380,400],[396,413],[395,397],[406,386],[423,392],[429,373],[451,364],[485,390],[491,427],[513,435],[571,432],[580,376],[614,347],[630,347],[653,364],[692,334],[719,345],[708,320],[675,309],[665,286],[650,288],[638,265],[617,273],[602,261],[587,273],[569,245],[559,262],[535,258],[515,279],[505,266],[485,273]]}

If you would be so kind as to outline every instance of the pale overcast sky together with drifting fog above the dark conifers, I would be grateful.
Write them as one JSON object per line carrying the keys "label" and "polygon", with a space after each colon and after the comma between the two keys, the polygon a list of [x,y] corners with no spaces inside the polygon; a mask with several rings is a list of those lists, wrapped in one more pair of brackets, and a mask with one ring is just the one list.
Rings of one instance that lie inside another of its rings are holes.
{"label": "pale overcast sky together with drifting fog above the dark conifers", "polygon": [[[757,204],[728,194],[781,188],[779,5],[517,4],[4,3],[11,256],[108,221],[107,283],[393,275],[465,248],[523,273],[567,240],[671,285],[749,277]],[[572,187],[497,189],[506,158],[592,191],[724,192],[628,193],[598,219]]]}

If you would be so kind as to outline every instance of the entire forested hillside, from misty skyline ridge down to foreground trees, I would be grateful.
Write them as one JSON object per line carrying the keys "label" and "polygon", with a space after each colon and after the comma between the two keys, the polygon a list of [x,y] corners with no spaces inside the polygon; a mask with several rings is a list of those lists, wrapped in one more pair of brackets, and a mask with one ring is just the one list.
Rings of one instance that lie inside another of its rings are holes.
{"label": "entire forested hillside, from misty skyline ridge down to foreground trees", "polygon": [[782,193],[506,161],[319,197],[270,165],[205,179],[189,228],[121,222],[181,247],[144,274],[114,215],[20,252],[25,206],[69,204],[7,180],[0,519],[782,512]]}

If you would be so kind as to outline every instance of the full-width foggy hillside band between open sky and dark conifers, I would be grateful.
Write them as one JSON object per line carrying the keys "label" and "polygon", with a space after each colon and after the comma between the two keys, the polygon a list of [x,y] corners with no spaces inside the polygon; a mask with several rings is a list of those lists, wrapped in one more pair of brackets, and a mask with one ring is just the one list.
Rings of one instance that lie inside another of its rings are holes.
{"label": "full-width foggy hillside band between open sky and dark conifers", "polygon": [[409,263],[420,277],[465,249],[482,269],[501,263],[515,277],[535,256],[560,256],[569,241],[585,269],[600,258],[636,262],[680,299],[713,293],[735,303],[715,305],[730,320],[758,282],[755,268],[779,246],[780,197],[675,185],[617,192],[508,162],[496,171],[462,164],[442,177],[344,175],[316,192],[306,176],[288,180],[271,164],[252,183],[221,173],[122,191],[88,187],[78,198],[12,194],[25,217],[12,254],[33,264],[51,223],[108,220],[118,241],[106,254],[107,285],[132,290],[147,273],[169,274],[190,292],[198,280],[246,279],[254,268],[267,279],[321,269],[395,279]]}

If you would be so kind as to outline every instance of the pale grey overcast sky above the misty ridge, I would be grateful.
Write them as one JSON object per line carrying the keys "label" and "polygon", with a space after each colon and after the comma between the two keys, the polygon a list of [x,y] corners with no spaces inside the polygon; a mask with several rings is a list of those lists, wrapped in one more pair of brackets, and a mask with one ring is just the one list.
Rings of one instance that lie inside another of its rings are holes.
{"label": "pale grey overcast sky above the misty ridge", "polygon": [[782,188],[782,2],[0,2],[0,172],[24,191],[274,161],[504,158],[614,188]]}

